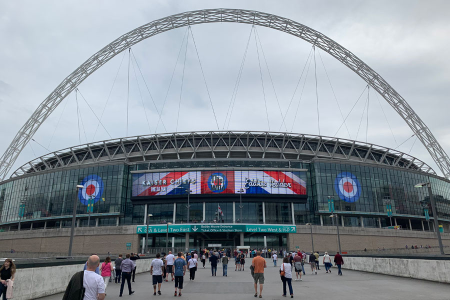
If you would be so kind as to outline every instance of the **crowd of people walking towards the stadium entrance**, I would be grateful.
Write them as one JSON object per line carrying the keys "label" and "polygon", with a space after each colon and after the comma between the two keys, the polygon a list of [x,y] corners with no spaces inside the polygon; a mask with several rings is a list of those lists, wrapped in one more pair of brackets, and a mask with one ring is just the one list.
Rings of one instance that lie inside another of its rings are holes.
{"label": "crowd of people walking towards the stadium entrance", "polygon": [[[246,262],[246,259],[250,259]],[[151,261],[150,274],[153,285],[153,295],[161,295],[162,282],[173,281],[174,296],[181,296],[183,289],[184,275],[189,272],[189,280],[195,281],[195,272],[198,263],[201,262],[205,268],[206,260],[211,267],[211,276],[217,276],[217,265],[222,265],[222,276],[228,276],[228,263],[234,259],[234,270],[243,271],[250,270],[254,280],[254,296],[262,298],[262,287],[264,284],[264,269],[267,267],[266,258],[273,262],[273,266],[277,267],[278,259],[282,262],[279,265],[279,274],[282,281],[282,296],[287,296],[287,289],[291,298],[293,298],[292,279],[295,274],[295,281],[301,281],[302,274],[305,275],[304,265],[309,264],[311,274],[317,274],[319,270],[319,254],[318,252],[306,253],[305,251],[287,252],[284,249],[200,249],[200,251],[177,252],[173,254],[168,251],[167,254],[157,253],[156,258]],[[65,290],[63,300],[79,299],[80,289],[84,288],[84,299],[86,300],[103,300],[106,296],[108,282],[114,281],[120,284],[119,296],[123,294],[125,281],[128,287],[128,294],[134,293],[131,283],[134,282],[136,271],[136,260],[140,259],[137,253],[126,253],[125,258],[122,254],[114,260],[114,266],[110,256],[107,256],[103,262],[96,253],[92,253],[84,264],[84,269],[75,273],[70,279]],[[332,264],[337,265],[338,275],[342,275],[341,265],[343,264],[342,256],[337,252],[332,260],[330,255],[325,252],[322,257],[322,263],[325,266],[325,273],[331,273]],[[5,262],[2,269],[10,266],[12,261]],[[13,264],[12,264],[13,266]],[[1,270],[1,269],[0,269]],[[15,267],[10,268],[10,273],[15,273]],[[10,279],[11,276],[9,276]],[[3,279],[3,271],[1,272]],[[3,283],[3,281],[1,281]],[[259,284],[259,286],[258,286]],[[82,288],[81,288],[82,287]],[[6,289],[4,289],[6,290]]]}

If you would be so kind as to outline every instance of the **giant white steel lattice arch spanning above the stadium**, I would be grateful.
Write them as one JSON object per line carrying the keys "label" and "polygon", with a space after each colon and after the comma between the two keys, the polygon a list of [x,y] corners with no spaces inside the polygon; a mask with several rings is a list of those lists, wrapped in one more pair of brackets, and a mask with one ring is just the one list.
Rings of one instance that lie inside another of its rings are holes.
{"label": "giant white steel lattice arch spanning above the stadium", "polygon": [[149,22],[121,35],[90,56],[59,83],[17,132],[0,158],[0,179],[5,178],[26,143],[62,99],[109,59],[133,44],[158,33],[188,25],[214,22],[246,23],[273,28],[297,36],[328,52],[364,79],[392,106],[426,147],[443,175],[446,178],[450,177],[448,155],[425,123],[386,80],[356,55],[326,35],[288,18],[254,10],[218,8],[182,12]]}

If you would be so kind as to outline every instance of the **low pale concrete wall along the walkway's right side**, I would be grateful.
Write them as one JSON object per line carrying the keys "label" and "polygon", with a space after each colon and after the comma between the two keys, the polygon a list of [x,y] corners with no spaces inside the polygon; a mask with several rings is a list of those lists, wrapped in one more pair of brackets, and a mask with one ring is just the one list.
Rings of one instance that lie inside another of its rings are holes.
{"label": "low pale concrete wall along the walkway's right side", "polygon": [[352,256],[343,260],[342,269],[450,283],[450,260]]}

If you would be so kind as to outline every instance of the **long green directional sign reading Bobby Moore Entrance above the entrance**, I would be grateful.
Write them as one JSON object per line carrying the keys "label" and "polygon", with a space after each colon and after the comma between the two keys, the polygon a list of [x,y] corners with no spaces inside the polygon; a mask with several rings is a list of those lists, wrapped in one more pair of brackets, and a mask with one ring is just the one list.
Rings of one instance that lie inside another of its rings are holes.
{"label": "long green directional sign reading Bobby Moore Entrance above the entrance", "polygon": [[[136,233],[146,233],[147,226],[139,225]],[[167,225],[148,225],[148,233],[166,233]],[[271,224],[170,224],[169,233],[182,232],[261,232],[295,233],[295,225]]]}

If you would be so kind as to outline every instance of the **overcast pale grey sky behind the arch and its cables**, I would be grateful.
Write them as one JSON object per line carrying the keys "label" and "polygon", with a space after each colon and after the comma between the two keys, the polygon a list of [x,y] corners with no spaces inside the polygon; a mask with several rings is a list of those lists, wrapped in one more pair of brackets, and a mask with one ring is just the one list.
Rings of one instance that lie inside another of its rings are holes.
{"label": "overcast pale grey sky behind the arch and its cables", "polygon": [[[444,0],[0,1],[1,153],[39,103],[104,45],[161,17],[222,7],[280,15],[332,38],[392,85],[450,153],[450,2]],[[78,86],[98,117],[104,109],[102,123],[109,135],[116,138],[155,131],[217,130],[196,52],[220,129],[318,134],[320,128],[322,135],[367,140],[391,148],[412,135],[381,96],[371,90],[367,94],[366,83],[330,55],[317,50],[314,68],[313,58],[307,60],[311,44],[302,39],[256,27],[255,40],[251,25],[235,23],[199,24],[191,31],[187,36],[184,27],[148,38],[132,47],[135,60],[127,52],[119,53]],[[247,40],[228,126],[225,116]],[[306,69],[309,66],[307,75],[305,70],[300,77],[305,65]],[[159,123],[156,128],[158,114],[145,85],[159,111],[165,100],[163,126]],[[40,126],[35,141],[25,147],[12,169],[47,153],[47,149],[109,138],[101,125],[94,135],[96,117],[81,95],[77,97],[78,121],[72,93]],[[342,123],[336,99],[346,116],[360,95],[347,118],[348,131],[342,126],[336,134]],[[286,110],[282,124],[281,115]],[[398,150],[410,152],[438,171],[415,137]]]}

